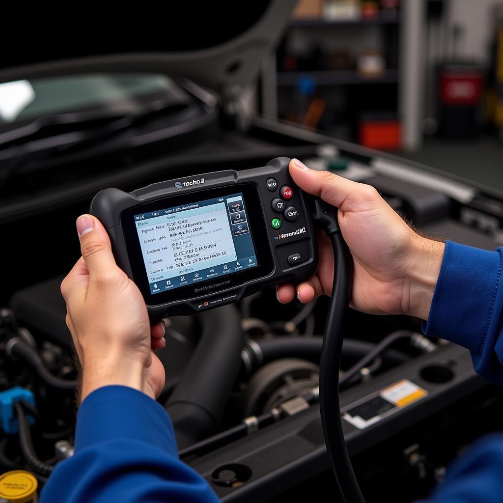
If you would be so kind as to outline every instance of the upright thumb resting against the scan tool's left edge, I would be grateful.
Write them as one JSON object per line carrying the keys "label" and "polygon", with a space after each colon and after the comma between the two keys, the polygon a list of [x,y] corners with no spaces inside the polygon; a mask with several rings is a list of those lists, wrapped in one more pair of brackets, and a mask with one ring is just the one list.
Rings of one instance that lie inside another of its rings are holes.
{"label": "upright thumb resting against the scan tool's left edge", "polygon": [[112,245],[105,227],[92,215],[77,218],[80,252],[89,270],[91,280],[113,271],[117,265],[112,254]]}

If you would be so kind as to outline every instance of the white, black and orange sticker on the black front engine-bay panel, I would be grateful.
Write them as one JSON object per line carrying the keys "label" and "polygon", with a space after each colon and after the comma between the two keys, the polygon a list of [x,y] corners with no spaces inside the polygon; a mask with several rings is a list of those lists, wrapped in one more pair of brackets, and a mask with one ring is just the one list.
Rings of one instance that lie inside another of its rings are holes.
{"label": "white, black and orange sticker on the black front engine-bay panel", "polygon": [[364,430],[427,395],[426,389],[402,379],[344,407],[341,414],[355,428]]}

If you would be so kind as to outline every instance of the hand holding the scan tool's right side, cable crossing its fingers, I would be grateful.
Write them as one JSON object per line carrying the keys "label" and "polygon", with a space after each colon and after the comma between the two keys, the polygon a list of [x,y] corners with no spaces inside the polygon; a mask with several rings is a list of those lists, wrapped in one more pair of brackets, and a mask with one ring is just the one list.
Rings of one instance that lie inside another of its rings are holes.
{"label": "hand holding the scan tool's right side, cable crossing its fingers", "polygon": [[[290,174],[305,192],[339,208],[339,225],[355,266],[351,306],[373,314],[428,319],[445,244],[415,233],[369,185],[309,170],[297,159],[290,162]],[[315,276],[296,287],[304,303],[330,295],[332,289],[333,252],[324,232],[318,245]],[[290,302],[294,295],[294,285],[278,287],[280,302]]]}

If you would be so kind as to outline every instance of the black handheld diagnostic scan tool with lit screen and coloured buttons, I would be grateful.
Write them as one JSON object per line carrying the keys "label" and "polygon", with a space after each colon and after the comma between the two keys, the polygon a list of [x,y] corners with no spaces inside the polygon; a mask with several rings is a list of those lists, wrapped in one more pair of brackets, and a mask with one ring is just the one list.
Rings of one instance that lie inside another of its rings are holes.
{"label": "black handheld diagnostic scan tool with lit screen and coloured buttons", "polygon": [[99,192],[91,203],[119,267],[152,322],[234,302],[265,286],[298,283],[317,266],[307,196],[290,159]]}

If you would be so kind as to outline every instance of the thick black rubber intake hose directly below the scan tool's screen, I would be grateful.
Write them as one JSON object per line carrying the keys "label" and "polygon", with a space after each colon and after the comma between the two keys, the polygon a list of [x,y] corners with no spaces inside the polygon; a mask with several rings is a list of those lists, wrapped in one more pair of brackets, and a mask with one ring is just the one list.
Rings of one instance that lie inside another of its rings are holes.
{"label": "thick black rubber intake hose directly below the scan tool's screen", "polygon": [[244,336],[231,304],[198,315],[201,339],[180,381],[164,404],[175,428],[179,449],[211,435],[241,367]]}

